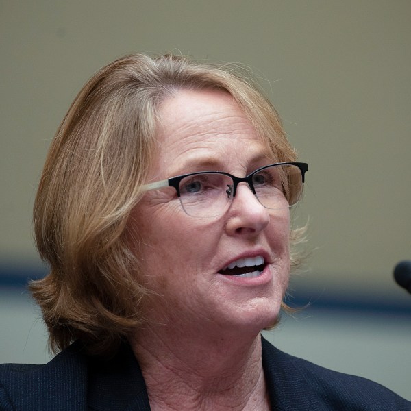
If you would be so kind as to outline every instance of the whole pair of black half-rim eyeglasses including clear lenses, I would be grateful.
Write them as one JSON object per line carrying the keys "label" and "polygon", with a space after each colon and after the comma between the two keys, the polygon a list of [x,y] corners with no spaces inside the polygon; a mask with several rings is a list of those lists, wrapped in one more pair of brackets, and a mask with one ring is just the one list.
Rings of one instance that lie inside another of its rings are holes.
{"label": "whole pair of black half-rim eyeglasses including clear lenses", "polygon": [[174,187],[186,214],[215,217],[224,214],[236,196],[238,184],[245,182],[262,206],[281,210],[294,206],[301,198],[308,164],[284,162],[260,167],[236,177],[223,171],[200,171],[146,184],[142,191]]}

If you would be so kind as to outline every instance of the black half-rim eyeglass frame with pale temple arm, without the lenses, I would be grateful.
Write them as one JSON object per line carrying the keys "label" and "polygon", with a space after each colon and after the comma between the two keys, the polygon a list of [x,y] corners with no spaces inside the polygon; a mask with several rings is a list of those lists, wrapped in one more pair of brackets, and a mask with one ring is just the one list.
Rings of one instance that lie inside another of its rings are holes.
{"label": "black half-rim eyeglass frame with pale temple arm, without the lenses", "polygon": [[[264,169],[268,169],[269,167],[272,166],[297,166],[299,168],[299,171],[301,172],[301,182],[305,182],[305,176],[306,172],[308,171],[308,164],[303,163],[303,162],[280,162],[280,163],[274,163],[274,164],[269,164],[268,166],[263,166],[260,167],[259,169],[254,170],[252,173],[247,175],[246,177],[236,177],[235,175],[232,175],[230,173],[225,173],[225,171],[197,171],[197,173],[188,173],[188,174],[183,174],[183,175],[177,175],[175,177],[171,177],[169,179],[164,179],[161,180],[160,182],[154,182],[150,184],[145,184],[144,186],[141,187],[142,191],[151,191],[151,190],[158,190],[159,188],[163,187],[174,187],[175,191],[177,192],[177,197],[181,197],[180,191],[179,191],[179,183],[182,181],[182,179],[186,177],[190,177],[190,175],[201,175],[201,174],[222,174],[222,175],[227,175],[227,177],[230,177],[233,182],[233,186],[229,186],[227,190],[227,195],[232,195],[232,197],[236,196],[236,190],[238,184],[242,182],[246,182],[253,192],[253,195],[256,195],[256,190],[254,189],[254,184],[253,184],[253,175],[256,173],[259,173],[260,171]],[[232,191],[231,191],[231,190]]]}

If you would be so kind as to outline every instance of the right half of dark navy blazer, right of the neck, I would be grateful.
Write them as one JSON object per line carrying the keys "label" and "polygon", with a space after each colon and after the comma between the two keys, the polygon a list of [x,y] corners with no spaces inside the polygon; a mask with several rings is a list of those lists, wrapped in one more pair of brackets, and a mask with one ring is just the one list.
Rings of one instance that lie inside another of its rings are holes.
{"label": "right half of dark navy blazer, right of the neck", "polygon": [[269,390],[284,409],[294,409],[298,403],[295,409],[301,411],[411,411],[409,401],[384,386],[290,356],[264,339],[262,361]]}

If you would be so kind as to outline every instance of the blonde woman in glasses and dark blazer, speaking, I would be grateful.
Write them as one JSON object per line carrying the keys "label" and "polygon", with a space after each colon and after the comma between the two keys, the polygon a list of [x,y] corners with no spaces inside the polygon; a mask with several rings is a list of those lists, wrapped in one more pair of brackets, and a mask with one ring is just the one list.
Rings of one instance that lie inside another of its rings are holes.
{"label": "blonde woman in glasses and dark blazer, speaking", "polygon": [[232,69],[129,55],[79,93],[34,206],[32,284],[62,351],[3,366],[1,410],[411,410],[278,351],[308,167]]}

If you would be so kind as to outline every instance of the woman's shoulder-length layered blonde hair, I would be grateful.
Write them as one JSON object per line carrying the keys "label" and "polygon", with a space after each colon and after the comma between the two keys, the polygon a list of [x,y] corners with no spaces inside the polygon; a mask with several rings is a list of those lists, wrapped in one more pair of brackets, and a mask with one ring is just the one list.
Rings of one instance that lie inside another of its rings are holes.
{"label": "woman's shoulder-length layered blonde hair", "polygon": [[[55,134],[34,203],[36,245],[50,272],[30,288],[55,352],[79,339],[90,353],[107,356],[145,321],[147,290],[127,221],[155,153],[159,108],[183,89],[225,90],[269,158],[296,160],[273,105],[233,66],[134,54],[103,67]],[[298,230],[290,229],[290,245],[298,241]]]}

